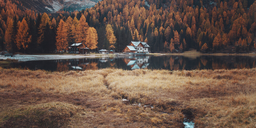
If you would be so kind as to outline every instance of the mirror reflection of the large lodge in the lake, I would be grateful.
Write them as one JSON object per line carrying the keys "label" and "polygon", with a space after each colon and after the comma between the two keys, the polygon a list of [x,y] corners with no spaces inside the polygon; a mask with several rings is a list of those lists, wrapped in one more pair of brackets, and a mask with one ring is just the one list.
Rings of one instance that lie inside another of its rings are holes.
{"label": "mirror reflection of the large lodge in the lake", "polygon": [[137,57],[129,56],[129,57],[125,57],[123,61],[127,66],[130,66],[132,70],[144,69],[149,65],[148,58],[149,56],[137,56]]}

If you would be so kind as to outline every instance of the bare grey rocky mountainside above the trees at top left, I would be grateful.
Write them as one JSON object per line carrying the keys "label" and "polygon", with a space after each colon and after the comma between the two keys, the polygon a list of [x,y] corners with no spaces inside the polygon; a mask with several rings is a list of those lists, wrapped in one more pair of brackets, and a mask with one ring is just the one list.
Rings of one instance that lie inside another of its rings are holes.
{"label": "bare grey rocky mountainside above the trees at top left", "polygon": [[19,0],[15,2],[18,6],[22,4],[27,9],[39,12],[54,13],[60,9],[82,10],[94,6],[100,0]]}

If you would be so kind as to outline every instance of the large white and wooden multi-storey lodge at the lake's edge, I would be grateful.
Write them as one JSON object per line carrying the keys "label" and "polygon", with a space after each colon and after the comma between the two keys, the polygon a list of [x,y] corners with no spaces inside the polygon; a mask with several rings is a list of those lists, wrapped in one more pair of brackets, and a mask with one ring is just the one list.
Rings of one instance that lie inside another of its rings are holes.
{"label": "large white and wooden multi-storey lodge at the lake's edge", "polygon": [[134,42],[132,41],[128,46],[123,50],[124,53],[142,53],[149,54],[148,44],[146,42]]}

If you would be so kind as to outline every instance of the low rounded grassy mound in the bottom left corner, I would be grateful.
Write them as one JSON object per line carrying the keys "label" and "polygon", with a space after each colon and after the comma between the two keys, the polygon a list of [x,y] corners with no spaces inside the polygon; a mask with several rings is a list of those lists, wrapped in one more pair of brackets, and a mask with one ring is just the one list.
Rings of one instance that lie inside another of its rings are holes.
{"label": "low rounded grassy mound in the bottom left corner", "polygon": [[61,127],[81,110],[63,102],[24,106],[1,115],[0,127]]}

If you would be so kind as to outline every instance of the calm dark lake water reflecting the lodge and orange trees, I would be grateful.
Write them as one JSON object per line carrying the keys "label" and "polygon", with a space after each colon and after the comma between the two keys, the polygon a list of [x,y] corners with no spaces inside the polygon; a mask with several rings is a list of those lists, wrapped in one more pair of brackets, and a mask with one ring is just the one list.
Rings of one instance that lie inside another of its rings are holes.
{"label": "calm dark lake water reflecting the lodge and orange trees", "polygon": [[89,70],[107,67],[134,69],[241,69],[256,67],[256,56],[218,55],[161,55],[110,56],[80,59],[58,59],[14,62],[4,68],[42,69],[48,71]]}

